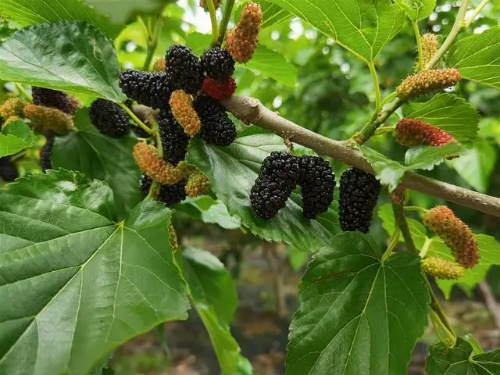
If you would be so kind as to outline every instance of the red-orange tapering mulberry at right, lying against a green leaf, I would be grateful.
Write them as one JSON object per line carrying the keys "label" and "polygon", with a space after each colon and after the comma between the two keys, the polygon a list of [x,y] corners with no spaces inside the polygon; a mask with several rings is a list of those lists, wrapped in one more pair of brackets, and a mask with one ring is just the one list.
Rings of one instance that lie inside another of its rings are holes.
{"label": "red-orange tapering mulberry at right, lying against a green leaf", "polygon": [[404,146],[444,146],[456,142],[450,134],[422,120],[405,118],[398,122],[394,132],[396,141]]}

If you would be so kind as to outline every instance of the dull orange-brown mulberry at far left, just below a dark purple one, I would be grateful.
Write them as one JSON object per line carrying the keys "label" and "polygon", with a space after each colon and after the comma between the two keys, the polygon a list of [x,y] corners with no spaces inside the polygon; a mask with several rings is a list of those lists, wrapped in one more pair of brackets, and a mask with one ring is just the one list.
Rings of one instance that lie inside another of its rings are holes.
{"label": "dull orange-brown mulberry at far left, just below a dark purple one", "polygon": [[66,134],[75,130],[73,118],[56,108],[28,104],[24,107],[24,117],[31,121],[36,132]]}

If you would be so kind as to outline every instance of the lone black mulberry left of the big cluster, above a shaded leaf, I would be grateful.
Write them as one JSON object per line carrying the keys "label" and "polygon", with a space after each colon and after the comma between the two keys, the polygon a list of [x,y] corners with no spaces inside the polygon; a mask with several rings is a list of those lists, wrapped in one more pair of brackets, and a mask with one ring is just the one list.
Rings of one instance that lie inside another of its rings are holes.
{"label": "lone black mulberry left of the big cluster, above a shaded leaf", "polygon": [[92,124],[102,134],[120,138],[128,133],[128,114],[116,103],[104,99],[94,100],[89,116]]}

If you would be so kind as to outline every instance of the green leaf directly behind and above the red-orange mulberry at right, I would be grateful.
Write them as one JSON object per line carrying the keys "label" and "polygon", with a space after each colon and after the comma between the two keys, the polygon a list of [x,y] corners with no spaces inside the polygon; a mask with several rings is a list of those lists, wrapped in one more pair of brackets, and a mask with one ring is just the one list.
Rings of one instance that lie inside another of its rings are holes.
{"label": "green leaf directly behind and above the red-orange mulberry at right", "polygon": [[406,104],[403,113],[443,129],[459,142],[472,142],[477,136],[479,113],[464,98],[453,94],[441,93],[426,102]]}

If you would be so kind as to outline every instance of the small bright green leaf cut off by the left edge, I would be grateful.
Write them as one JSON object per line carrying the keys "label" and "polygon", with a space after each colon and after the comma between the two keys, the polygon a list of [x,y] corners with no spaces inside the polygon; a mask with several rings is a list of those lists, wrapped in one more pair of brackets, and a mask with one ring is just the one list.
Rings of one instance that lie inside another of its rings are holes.
{"label": "small bright green leaf cut off by the left edge", "polygon": [[0,133],[0,157],[14,155],[36,144],[35,134],[21,120],[5,125]]}

